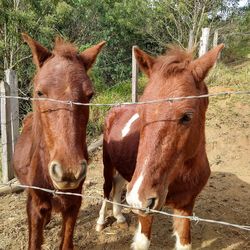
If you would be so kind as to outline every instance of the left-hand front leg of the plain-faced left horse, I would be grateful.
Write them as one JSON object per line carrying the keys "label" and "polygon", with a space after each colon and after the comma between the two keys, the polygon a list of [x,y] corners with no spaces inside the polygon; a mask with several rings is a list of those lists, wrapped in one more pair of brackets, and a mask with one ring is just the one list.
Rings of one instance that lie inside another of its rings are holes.
{"label": "left-hand front leg of the plain-faced left horse", "polygon": [[28,194],[29,250],[41,249],[45,218],[50,213],[51,207],[48,202],[42,202],[38,196]]}

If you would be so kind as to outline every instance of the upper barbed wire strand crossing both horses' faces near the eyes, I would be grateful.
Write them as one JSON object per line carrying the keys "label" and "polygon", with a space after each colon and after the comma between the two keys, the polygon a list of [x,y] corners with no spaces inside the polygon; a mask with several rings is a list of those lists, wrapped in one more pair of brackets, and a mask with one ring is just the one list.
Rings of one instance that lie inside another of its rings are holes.
{"label": "upper barbed wire strand crossing both horses' faces near the eyes", "polygon": [[26,101],[50,101],[50,102],[57,102],[66,105],[79,105],[79,106],[124,106],[124,105],[142,105],[142,104],[156,104],[156,103],[163,103],[163,102],[176,102],[176,101],[183,101],[186,99],[200,99],[200,98],[207,98],[207,97],[217,97],[217,96],[225,96],[225,95],[249,95],[250,90],[242,90],[242,91],[225,91],[225,92],[218,92],[218,93],[211,93],[211,94],[204,94],[204,95],[197,95],[197,96],[180,96],[180,97],[169,97],[164,99],[157,99],[157,100],[149,100],[149,101],[139,101],[139,102],[119,102],[119,103],[81,103],[81,102],[74,102],[70,100],[57,100],[53,98],[36,98],[36,97],[22,97],[22,96],[5,96],[0,95],[0,98],[5,99],[21,99]]}

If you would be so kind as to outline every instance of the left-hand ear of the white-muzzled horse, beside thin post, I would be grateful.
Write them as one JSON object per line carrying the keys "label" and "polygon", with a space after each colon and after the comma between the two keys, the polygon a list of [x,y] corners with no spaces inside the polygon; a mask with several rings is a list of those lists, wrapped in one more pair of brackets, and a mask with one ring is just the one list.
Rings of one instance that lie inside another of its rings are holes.
{"label": "left-hand ear of the white-muzzled horse, beside thin post", "polygon": [[149,77],[152,71],[152,67],[155,63],[155,58],[148,55],[146,52],[140,50],[139,48],[134,48],[134,53],[141,71]]}

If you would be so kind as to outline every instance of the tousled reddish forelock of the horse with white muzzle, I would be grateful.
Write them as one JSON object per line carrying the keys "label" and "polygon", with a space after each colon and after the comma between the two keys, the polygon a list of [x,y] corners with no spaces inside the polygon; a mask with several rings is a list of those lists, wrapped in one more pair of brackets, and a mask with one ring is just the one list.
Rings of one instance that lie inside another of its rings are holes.
{"label": "tousled reddish forelock of the horse with white muzzle", "polygon": [[165,55],[159,56],[156,59],[155,66],[159,73],[165,77],[173,76],[187,69],[193,56],[191,52],[184,50],[177,45],[169,45],[169,50]]}

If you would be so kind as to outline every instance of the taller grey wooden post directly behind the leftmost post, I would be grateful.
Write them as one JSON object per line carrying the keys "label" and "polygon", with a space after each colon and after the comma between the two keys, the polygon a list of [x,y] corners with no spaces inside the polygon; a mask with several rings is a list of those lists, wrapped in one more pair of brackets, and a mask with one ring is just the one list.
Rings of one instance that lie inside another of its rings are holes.
{"label": "taller grey wooden post directly behind the leftmost post", "polygon": [[[18,80],[16,72],[14,70],[5,70],[5,81],[10,87],[10,95],[18,96]],[[10,120],[12,135],[12,153],[14,153],[14,146],[19,135],[19,101],[16,98],[10,99]]]}

